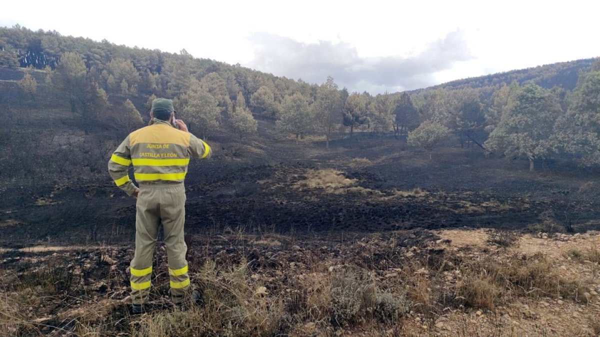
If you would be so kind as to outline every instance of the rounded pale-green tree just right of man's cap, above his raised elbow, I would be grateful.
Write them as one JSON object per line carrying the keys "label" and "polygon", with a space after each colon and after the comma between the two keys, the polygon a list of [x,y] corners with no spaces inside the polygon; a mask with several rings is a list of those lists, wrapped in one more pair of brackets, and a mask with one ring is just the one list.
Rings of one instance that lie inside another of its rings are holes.
{"label": "rounded pale-green tree just right of man's cap, above his raised elbow", "polygon": [[190,124],[190,131],[196,128],[202,139],[208,140],[220,125],[221,108],[197,80],[191,83],[190,89],[177,100],[177,105],[182,107],[181,116]]}

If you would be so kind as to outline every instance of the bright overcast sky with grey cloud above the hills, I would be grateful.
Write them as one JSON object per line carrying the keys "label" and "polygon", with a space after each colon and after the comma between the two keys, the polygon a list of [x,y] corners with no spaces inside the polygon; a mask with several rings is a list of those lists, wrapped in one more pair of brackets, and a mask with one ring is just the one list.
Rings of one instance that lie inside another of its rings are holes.
{"label": "bright overcast sky with grey cloud above the hills", "polygon": [[7,1],[56,30],[350,91],[397,92],[600,56],[600,1]]}

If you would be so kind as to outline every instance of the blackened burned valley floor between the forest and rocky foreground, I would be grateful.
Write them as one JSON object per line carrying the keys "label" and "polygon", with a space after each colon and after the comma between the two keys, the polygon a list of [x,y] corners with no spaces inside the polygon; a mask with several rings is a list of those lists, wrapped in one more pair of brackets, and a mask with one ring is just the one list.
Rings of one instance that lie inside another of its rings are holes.
{"label": "blackened burned valley floor between the forest and rocky foreground", "polygon": [[[485,158],[474,149],[448,146],[428,160],[426,154],[402,150],[400,142],[376,142],[364,139],[355,142],[356,149],[331,150],[277,141],[260,151],[256,146],[221,146],[221,154],[215,149],[215,160],[190,166],[187,233],[523,229],[538,223],[547,210],[557,214],[568,208],[565,191],[596,179],[590,172],[556,164],[530,173],[524,163]],[[238,152],[241,157],[231,155]],[[298,185],[326,170],[353,183],[335,188],[320,182]],[[86,185],[11,184],[2,194],[0,233],[5,245],[133,239],[134,200],[107,177]],[[598,198],[586,203],[577,210],[580,230],[595,226]]]}

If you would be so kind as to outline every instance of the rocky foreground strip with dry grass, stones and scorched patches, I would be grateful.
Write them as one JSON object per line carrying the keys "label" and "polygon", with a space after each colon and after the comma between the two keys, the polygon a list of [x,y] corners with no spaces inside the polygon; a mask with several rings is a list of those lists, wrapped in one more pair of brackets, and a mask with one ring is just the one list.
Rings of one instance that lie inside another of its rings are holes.
{"label": "rocky foreground strip with dry grass, stones and scorched patches", "polygon": [[128,305],[131,246],[2,251],[4,335],[595,336],[600,233],[403,230],[188,238],[203,306]]}

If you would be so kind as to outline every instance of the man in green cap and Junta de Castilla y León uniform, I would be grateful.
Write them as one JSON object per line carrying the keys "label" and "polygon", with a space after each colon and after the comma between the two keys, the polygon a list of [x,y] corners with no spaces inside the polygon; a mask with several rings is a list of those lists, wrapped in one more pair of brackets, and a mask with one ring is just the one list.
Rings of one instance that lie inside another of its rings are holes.
{"label": "man in green cap and Junta de Castilla y Le\u00f3n uniform", "polygon": [[[171,300],[180,305],[189,299],[184,178],[190,157],[205,159],[212,152],[208,144],[188,132],[181,119],[175,119],[171,100],[152,101],[150,118],[148,127],[130,133],[109,161],[110,176],[116,185],[137,198],[136,251],[130,265],[134,314],[143,312],[142,305],[148,300],[152,255],[160,224],[167,248]],[[130,164],[139,188],[129,179]],[[194,291],[194,299],[198,295]]]}

